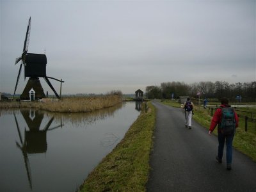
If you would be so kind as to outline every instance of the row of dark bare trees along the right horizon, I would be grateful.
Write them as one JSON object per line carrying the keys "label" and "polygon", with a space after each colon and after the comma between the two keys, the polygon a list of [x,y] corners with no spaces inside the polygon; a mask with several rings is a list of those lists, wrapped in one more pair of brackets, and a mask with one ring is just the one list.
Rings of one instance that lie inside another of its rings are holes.
{"label": "row of dark bare trees along the right horizon", "polygon": [[147,86],[145,95],[148,99],[179,99],[179,96],[198,98],[198,92],[201,98],[227,97],[231,102],[252,102],[256,101],[256,81],[232,84],[226,81],[201,81],[192,84],[173,81],[161,83],[160,86]]}

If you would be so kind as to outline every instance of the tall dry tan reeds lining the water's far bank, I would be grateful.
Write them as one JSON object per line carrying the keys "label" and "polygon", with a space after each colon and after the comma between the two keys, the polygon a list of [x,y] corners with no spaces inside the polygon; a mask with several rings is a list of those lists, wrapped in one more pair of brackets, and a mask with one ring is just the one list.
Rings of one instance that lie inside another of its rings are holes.
{"label": "tall dry tan reeds lining the water's far bank", "polygon": [[58,101],[47,102],[0,102],[0,108],[36,108],[52,112],[88,112],[109,108],[122,102],[122,95],[102,97],[66,97]]}

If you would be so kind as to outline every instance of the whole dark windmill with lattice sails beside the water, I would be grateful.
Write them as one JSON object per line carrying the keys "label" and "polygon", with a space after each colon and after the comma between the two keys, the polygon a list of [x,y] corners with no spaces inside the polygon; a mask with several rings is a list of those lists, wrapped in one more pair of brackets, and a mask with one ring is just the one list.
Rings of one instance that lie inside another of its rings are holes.
{"label": "whole dark windmill with lattice sails beside the water", "polygon": [[[60,99],[60,96],[58,95],[56,90],[54,90],[54,87],[52,86],[49,79],[54,79],[61,83],[63,83],[64,81],[55,79],[53,77],[46,76],[46,64],[47,64],[46,55],[45,54],[28,53],[30,29],[31,29],[31,17],[29,18],[29,21],[28,21],[28,28],[27,28],[27,32],[26,32],[26,37],[25,37],[25,41],[24,41],[24,47],[23,47],[22,54],[15,61],[15,65],[17,65],[17,63],[19,63],[19,61],[21,61],[21,62],[20,62],[20,68],[19,68],[19,73],[17,76],[17,81],[15,84],[15,90],[13,93],[13,97],[17,90],[17,86],[18,86],[19,79],[20,79],[20,72],[22,70],[22,65],[23,65],[24,79],[26,79],[26,77],[29,77],[29,80],[24,88],[24,91],[20,95],[20,99],[35,100],[35,99],[42,99],[45,97],[44,89],[42,88],[42,84],[40,83],[39,77],[43,77],[45,79],[46,83],[50,86],[52,91],[55,93],[56,97],[58,99]],[[33,93],[33,99],[31,99],[31,92]]]}

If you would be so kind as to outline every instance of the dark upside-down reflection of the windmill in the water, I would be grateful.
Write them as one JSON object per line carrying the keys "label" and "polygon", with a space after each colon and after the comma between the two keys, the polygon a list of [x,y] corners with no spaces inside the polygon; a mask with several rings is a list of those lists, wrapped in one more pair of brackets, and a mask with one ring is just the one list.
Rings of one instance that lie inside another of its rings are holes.
{"label": "dark upside-down reflection of the windmill in the water", "polygon": [[24,140],[23,140],[22,134],[20,132],[19,123],[17,121],[15,113],[13,113],[15,118],[15,123],[17,126],[17,131],[19,133],[19,139],[20,139],[20,143],[16,141],[16,145],[22,151],[26,172],[28,176],[28,181],[29,181],[29,187],[32,189],[32,179],[31,179],[28,154],[45,153],[47,151],[46,132],[62,127],[63,124],[61,121],[60,125],[50,128],[54,120],[54,116],[52,116],[49,122],[45,125],[44,129],[40,129],[40,125],[42,123],[42,120],[44,119],[44,113],[35,109],[21,109],[20,112],[24,120],[26,121],[26,124],[28,125],[29,130],[26,130],[26,127],[25,127]]}

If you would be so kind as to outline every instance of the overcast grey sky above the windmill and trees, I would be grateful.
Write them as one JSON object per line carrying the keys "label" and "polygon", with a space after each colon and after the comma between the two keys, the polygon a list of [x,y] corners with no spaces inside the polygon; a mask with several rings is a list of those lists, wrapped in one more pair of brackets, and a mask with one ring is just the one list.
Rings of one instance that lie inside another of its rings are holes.
{"label": "overcast grey sky above the windmill and trees", "polygon": [[[0,2],[0,92],[14,92],[29,17],[28,52],[46,54],[62,94],[256,81],[255,0]],[[16,93],[27,81],[22,71]]]}

